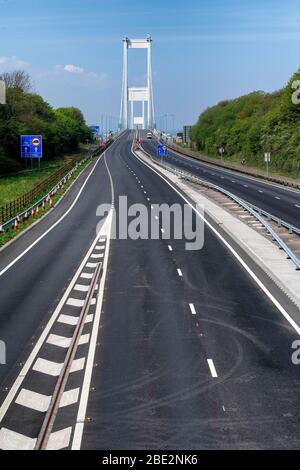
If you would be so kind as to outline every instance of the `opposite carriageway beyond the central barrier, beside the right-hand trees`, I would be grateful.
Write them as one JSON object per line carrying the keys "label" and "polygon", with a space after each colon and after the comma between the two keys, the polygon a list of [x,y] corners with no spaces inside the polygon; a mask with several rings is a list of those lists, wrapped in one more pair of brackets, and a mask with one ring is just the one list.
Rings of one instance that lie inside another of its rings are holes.
{"label": "opposite carriageway beyond the central barrier, beside the right-hand trees", "polygon": [[[143,148],[154,158],[156,158],[156,146],[155,140],[144,140],[143,142]],[[299,191],[199,162],[194,158],[172,151],[170,147],[168,156],[164,158],[172,166],[221,186],[300,229]]]}

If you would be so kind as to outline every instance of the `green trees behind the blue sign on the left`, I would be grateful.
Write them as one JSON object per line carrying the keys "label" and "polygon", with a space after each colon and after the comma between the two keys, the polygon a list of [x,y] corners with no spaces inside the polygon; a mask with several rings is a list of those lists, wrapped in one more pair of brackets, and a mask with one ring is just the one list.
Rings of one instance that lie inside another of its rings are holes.
{"label": "green trees behind the blue sign on the left", "polygon": [[10,82],[6,90],[7,104],[0,106],[0,174],[20,169],[22,134],[43,136],[43,155],[46,159],[75,152],[81,142],[92,139],[79,109],[54,110],[41,96],[15,85],[16,82]]}

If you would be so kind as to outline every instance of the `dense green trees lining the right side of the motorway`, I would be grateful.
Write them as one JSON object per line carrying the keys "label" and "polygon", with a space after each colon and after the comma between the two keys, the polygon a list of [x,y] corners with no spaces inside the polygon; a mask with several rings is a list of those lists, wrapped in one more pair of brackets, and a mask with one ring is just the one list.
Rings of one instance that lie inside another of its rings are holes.
{"label": "dense green trees lining the right side of the motorway", "polygon": [[209,156],[224,146],[226,159],[257,167],[264,165],[268,151],[274,170],[299,173],[300,104],[292,101],[296,80],[300,69],[280,91],[256,91],[208,108],[192,128],[192,141]]}

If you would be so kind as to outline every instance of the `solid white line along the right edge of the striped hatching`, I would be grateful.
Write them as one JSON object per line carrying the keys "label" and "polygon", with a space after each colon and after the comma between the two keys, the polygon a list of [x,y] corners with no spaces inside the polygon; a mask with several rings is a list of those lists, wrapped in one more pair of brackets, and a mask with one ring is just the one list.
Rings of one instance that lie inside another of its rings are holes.
{"label": "solid white line along the right edge of the striped hatching", "polygon": [[[104,162],[105,162],[107,172],[110,178],[111,192],[112,192],[112,205],[113,205],[114,204],[113,180],[112,180],[112,176],[109,171],[109,168],[107,166],[106,158],[104,158]],[[109,232],[108,232],[107,245],[106,245],[106,255],[104,258],[103,271],[102,271],[102,276],[101,276],[101,280],[99,284],[98,300],[97,300],[96,311],[95,311],[95,316],[94,316],[94,323],[93,323],[93,328],[92,328],[92,333],[91,333],[89,351],[88,351],[88,356],[86,360],[86,367],[85,367],[85,372],[84,372],[84,379],[83,379],[82,392],[81,392],[80,401],[79,401],[77,419],[76,419],[74,435],[73,435],[73,440],[72,440],[72,445],[71,445],[72,450],[80,450],[81,448],[86,410],[87,410],[87,404],[88,404],[90,386],[91,386],[91,380],[92,380],[92,373],[93,373],[93,368],[94,368],[94,358],[95,358],[97,341],[98,341],[98,332],[99,332],[100,320],[101,320],[104,287],[105,287],[105,281],[106,281],[107,265],[108,265],[109,250],[110,250],[112,219],[113,219],[113,210],[110,211],[105,221],[106,224],[109,224]]]}

